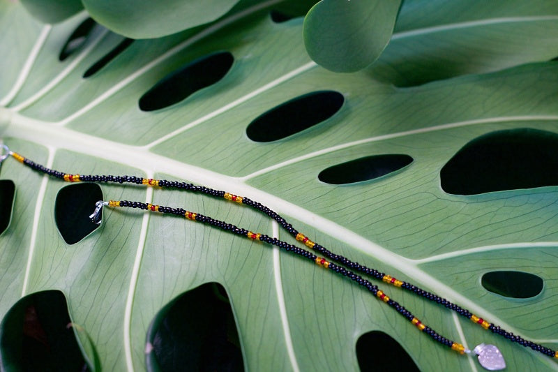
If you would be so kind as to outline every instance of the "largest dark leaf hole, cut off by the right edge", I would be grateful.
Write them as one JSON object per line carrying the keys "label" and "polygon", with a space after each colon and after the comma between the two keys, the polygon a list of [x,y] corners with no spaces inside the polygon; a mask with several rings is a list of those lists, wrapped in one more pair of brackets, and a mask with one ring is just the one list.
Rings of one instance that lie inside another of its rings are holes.
{"label": "largest dark leaf hole, cut off by the right edge", "polygon": [[440,171],[446,193],[476,195],[558,185],[558,135],[538,129],[496,131],[477,137]]}

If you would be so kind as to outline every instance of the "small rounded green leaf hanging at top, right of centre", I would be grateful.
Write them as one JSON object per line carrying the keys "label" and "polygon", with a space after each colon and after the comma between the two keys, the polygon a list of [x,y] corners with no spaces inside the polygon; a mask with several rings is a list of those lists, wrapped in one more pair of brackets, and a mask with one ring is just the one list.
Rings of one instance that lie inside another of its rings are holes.
{"label": "small rounded green leaf hanging at top, right of centre", "polygon": [[362,70],[389,43],[400,5],[400,0],[319,1],[304,20],[308,54],[335,72]]}

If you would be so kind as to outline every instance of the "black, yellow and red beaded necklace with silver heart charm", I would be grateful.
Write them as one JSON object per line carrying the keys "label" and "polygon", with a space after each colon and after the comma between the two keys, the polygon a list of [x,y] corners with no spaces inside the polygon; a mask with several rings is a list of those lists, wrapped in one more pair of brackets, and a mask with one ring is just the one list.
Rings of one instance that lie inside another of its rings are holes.
{"label": "black, yellow and red beaded necklace with silver heart charm", "polygon": [[[400,313],[403,317],[405,317],[409,322],[412,323],[415,327],[417,327],[421,332],[427,334],[432,338],[434,341],[441,343],[442,345],[451,348],[455,352],[458,352],[461,355],[464,354],[472,354],[472,351],[465,348],[462,344],[457,343],[455,341],[451,341],[450,339],[438,334],[435,332],[434,329],[428,327],[423,322],[418,320],[410,311],[408,311],[405,307],[403,307],[398,302],[395,302],[393,299],[388,297],[386,293],[378,288],[377,285],[372,284],[368,279],[363,278],[363,276],[356,274],[355,271],[359,273],[365,274],[366,276],[370,276],[372,278],[381,280],[384,283],[391,284],[397,288],[402,288],[409,292],[413,292],[414,294],[421,296],[425,299],[430,300],[431,302],[435,302],[437,304],[441,304],[446,308],[455,311],[459,315],[462,315],[472,322],[480,325],[483,329],[490,330],[494,334],[499,334],[508,340],[519,343],[520,345],[531,348],[532,350],[536,350],[538,352],[543,353],[544,355],[548,355],[549,357],[554,357],[558,359],[558,351],[552,350],[550,348],[546,348],[543,345],[539,345],[538,343],[534,343],[533,341],[526,340],[521,336],[516,336],[511,332],[507,332],[502,327],[499,327],[483,318],[474,315],[467,309],[458,306],[457,304],[453,304],[452,302],[444,299],[443,297],[439,297],[431,292],[425,291],[422,288],[413,285],[412,283],[406,281],[400,281],[393,276],[388,274],[384,274],[383,272],[378,271],[377,269],[373,269],[370,267],[366,267],[365,265],[361,265],[358,262],[353,262],[348,258],[343,257],[342,255],[338,255],[329,251],[324,246],[315,243],[314,241],[310,240],[306,235],[303,235],[301,232],[296,230],[290,223],[288,223],[285,218],[282,218],[279,214],[277,214],[272,209],[264,206],[263,204],[256,202],[255,200],[251,200],[249,198],[245,198],[239,195],[234,195],[232,193],[227,193],[225,191],[215,190],[213,188],[207,188],[205,186],[197,186],[194,184],[181,182],[181,181],[167,181],[166,179],[146,179],[143,177],[135,177],[135,176],[112,176],[112,175],[80,175],[80,174],[68,174],[64,172],[59,172],[57,170],[52,170],[46,168],[43,165],[34,163],[33,161],[29,160],[28,158],[24,158],[20,154],[17,154],[13,151],[10,151],[6,145],[1,145],[6,154],[0,156],[0,164],[4,161],[8,156],[12,156],[20,163],[27,165],[29,168],[33,170],[37,170],[39,172],[43,172],[52,177],[56,177],[58,179],[63,179],[67,182],[78,182],[78,181],[85,181],[85,182],[98,182],[98,183],[130,183],[130,184],[138,184],[138,185],[145,185],[145,186],[153,186],[158,188],[176,188],[179,190],[186,190],[192,191],[195,193],[202,193],[206,195],[211,195],[216,198],[224,198],[225,200],[229,200],[232,202],[236,202],[239,204],[245,204],[248,207],[252,207],[257,211],[266,214],[273,218],[284,230],[289,232],[292,237],[294,237],[297,241],[301,241],[304,245],[308,248],[312,249],[313,251],[320,253],[324,257],[319,257],[314,253],[306,250],[305,248],[300,248],[295,246],[294,244],[289,244],[286,241],[279,240],[274,237],[269,237],[265,234],[260,234],[258,232],[252,232],[243,228],[239,228],[235,225],[227,223],[225,221],[219,221],[215,218],[211,218],[209,216],[204,216],[203,214],[195,213],[192,211],[186,211],[182,208],[172,208],[172,207],[165,207],[163,205],[156,205],[151,203],[144,203],[144,202],[131,202],[128,200],[120,200],[114,201],[110,200],[108,202],[99,201],[96,203],[96,209],[93,211],[93,214],[89,216],[91,221],[99,224],[100,223],[100,211],[103,207],[130,207],[130,208],[139,208],[144,209],[147,211],[153,211],[163,214],[174,214],[176,216],[183,216],[190,221],[197,221],[200,223],[205,223],[207,225],[211,225],[215,228],[220,228],[221,230],[232,232],[236,235],[242,235],[247,237],[250,240],[254,241],[262,241],[263,243],[270,244],[273,246],[278,246],[279,248],[283,249],[284,251],[292,252],[296,255],[301,256],[302,258],[306,258],[315,262],[315,264],[323,267],[324,269],[329,269],[338,273],[342,276],[346,276],[350,278],[352,281],[357,283],[358,285],[363,286],[366,290],[372,293],[373,296],[377,297],[377,299],[381,300],[385,304],[394,308],[395,311]],[[329,260],[326,260],[329,258]],[[335,263],[337,262],[337,263]],[[354,270],[354,271],[353,271]],[[496,371],[500,369],[504,369],[506,367],[506,363],[504,362],[504,357],[499,349],[495,345],[485,345],[481,343],[477,345],[473,353],[478,356],[478,362],[483,366],[485,369],[490,371]]]}

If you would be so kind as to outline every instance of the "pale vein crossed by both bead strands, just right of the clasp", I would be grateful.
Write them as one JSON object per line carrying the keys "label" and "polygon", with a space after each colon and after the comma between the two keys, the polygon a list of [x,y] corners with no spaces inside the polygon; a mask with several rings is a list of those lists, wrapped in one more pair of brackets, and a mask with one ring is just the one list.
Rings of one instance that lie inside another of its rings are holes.
{"label": "pale vein crossed by both bead strands, just right of the clasp", "polygon": [[[153,172],[146,172],[147,178],[153,178]],[[153,188],[147,188],[145,202],[150,203],[153,200]],[[130,285],[128,286],[128,297],[126,298],[126,308],[124,310],[124,354],[126,355],[126,369],[134,371],[132,360],[132,341],[130,332],[132,329],[132,306],[134,304],[135,289],[137,278],[140,274],[140,266],[144,255],[145,240],[147,237],[147,226],[149,225],[149,213],[144,214],[142,218],[142,228],[140,230],[140,241],[137,242],[137,250],[135,253],[134,267],[130,277]]]}

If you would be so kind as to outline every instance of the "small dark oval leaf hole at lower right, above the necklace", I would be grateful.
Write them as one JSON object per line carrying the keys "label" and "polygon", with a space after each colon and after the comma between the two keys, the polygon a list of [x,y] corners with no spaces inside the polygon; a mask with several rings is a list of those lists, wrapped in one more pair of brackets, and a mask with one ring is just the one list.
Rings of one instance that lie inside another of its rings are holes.
{"label": "small dark oval leaf hole at lower right, above the necklace", "polygon": [[490,271],[483,275],[481,284],[497,295],[527,299],[541,293],[544,281],[540,276],[523,271]]}

